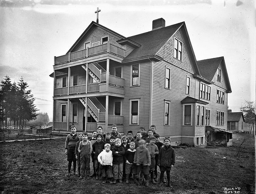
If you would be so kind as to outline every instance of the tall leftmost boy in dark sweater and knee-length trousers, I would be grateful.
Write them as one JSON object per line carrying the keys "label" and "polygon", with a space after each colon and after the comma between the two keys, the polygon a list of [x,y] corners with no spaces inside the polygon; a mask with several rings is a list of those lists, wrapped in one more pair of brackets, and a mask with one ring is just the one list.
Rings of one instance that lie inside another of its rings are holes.
{"label": "tall leftmost boy in dark sweater and knee-length trousers", "polygon": [[68,176],[70,176],[71,165],[73,162],[74,174],[76,174],[76,156],[75,156],[75,146],[78,140],[78,134],[76,133],[76,126],[72,125],[70,127],[71,133],[66,137],[65,141],[65,153],[68,160]]}

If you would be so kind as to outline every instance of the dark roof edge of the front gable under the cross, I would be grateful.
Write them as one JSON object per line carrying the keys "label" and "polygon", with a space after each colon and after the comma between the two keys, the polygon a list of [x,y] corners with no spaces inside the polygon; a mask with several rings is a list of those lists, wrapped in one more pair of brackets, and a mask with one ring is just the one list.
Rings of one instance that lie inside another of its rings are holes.
{"label": "dark roof edge of the front gable under the cross", "polygon": [[109,28],[106,28],[105,26],[102,26],[102,25],[100,25],[99,23],[96,23],[96,22],[92,21],[92,22],[90,23],[90,25],[85,29],[85,31],[84,31],[84,32],[81,34],[81,36],[76,40],[76,42],[73,44],[73,46],[68,50],[68,52],[67,52],[66,54],[68,54],[69,52],[72,52],[73,49],[75,49],[76,46],[79,45],[78,43],[81,41],[81,39],[84,38],[84,36],[86,36],[86,34],[90,33],[90,32],[94,29],[94,27],[97,27],[97,26],[100,27],[100,28],[102,28],[103,30],[106,30],[106,31],[112,33],[113,35],[115,35],[116,37],[118,37],[118,38],[120,38],[120,39],[126,38],[126,37],[122,36],[121,34],[118,34],[118,33],[114,32],[113,30],[111,30],[111,29],[109,29]]}

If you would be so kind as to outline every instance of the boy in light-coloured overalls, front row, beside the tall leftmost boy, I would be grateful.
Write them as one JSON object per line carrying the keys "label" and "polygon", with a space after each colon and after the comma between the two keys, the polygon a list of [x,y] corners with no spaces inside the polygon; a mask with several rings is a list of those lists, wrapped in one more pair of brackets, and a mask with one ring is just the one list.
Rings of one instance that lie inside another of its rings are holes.
{"label": "boy in light-coloured overalls, front row, beside the tall leftmost boy", "polygon": [[86,172],[87,179],[90,179],[90,156],[92,153],[92,145],[88,140],[88,134],[85,132],[82,134],[82,141],[78,146],[78,152],[80,153],[80,177],[79,179],[83,179]]}

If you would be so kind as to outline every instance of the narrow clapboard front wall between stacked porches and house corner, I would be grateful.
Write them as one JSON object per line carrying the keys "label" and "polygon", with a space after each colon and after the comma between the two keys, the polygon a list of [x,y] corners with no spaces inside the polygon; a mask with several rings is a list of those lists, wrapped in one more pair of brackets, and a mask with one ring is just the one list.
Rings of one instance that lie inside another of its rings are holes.
{"label": "narrow clapboard front wall between stacked porches and house corner", "polygon": [[[124,96],[122,102],[122,115],[124,116],[124,134],[132,130],[133,133],[139,131],[141,126],[149,129],[150,112],[150,74],[151,64],[140,63],[140,86],[130,87],[131,65],[123,66]],[[139,98],[139,125],[129,125],[130,98]]]}

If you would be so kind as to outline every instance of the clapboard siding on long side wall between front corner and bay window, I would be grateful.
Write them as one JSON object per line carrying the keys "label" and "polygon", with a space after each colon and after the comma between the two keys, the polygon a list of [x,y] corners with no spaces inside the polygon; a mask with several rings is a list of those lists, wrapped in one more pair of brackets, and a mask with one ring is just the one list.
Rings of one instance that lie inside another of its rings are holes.
{"label": "clapboard siding on long side wall between front corner and bay window", "polygon": [[[170,89],[165,88],[165,67],[171,69]],[[193,135],[193,126],[182,126],[183,105],[186,95],[186,77],[192,79],[192,73],[178,68],[166,61],[154,63],[152,124],[156,125],[160,136]],[[193,97],[194,82],[191,81],[190,96]],[[164,100],[170,102],[170,125],[164,125]],[[183,130],[182,130],[183,129]],[[186,132],[184,131],[186,129]]]}

